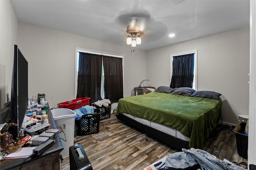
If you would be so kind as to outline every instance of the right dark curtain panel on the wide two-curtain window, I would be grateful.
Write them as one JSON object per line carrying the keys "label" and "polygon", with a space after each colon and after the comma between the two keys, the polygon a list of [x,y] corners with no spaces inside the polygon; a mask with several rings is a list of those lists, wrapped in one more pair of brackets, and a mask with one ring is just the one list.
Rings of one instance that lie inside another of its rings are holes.
{"label": "right dark curtain panel on the wide two-curtain window", "polygon": [[122,58],[103,57],[104,93],[110,102],[118,102],[123,98],[123,70]]}

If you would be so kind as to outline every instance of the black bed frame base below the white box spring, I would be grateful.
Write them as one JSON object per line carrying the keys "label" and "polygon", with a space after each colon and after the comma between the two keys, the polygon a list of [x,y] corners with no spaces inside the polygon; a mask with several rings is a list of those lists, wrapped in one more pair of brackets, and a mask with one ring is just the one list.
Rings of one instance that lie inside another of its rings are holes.
{"label": "black bed frame base below the white box spring", "polygon": [[126,117],[123,114],[117,114],[116,115],[117,119],[123,121],[124,123],[138,129],[139,131],[142,131],[142,133],[146,133],[163,143],[166,143],[170,147],[174,147],[175,149],[182,150],[184,149],[189,149],[188,144],[189,142],[183,141],[181,139],[178,139],[176,137],[173,137],[171,135],[168,135],[162,131],[158,131],[152,127],[149,127],[147,125],[143,125],[142,123],[139,123],[135,121],[134,119],[131,119],[130,117]]}

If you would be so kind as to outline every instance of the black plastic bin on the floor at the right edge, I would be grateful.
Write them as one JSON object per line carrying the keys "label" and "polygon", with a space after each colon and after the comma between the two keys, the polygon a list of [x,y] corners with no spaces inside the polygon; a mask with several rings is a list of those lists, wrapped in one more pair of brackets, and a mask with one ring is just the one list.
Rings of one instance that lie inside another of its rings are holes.
{"label": "black plastic bin on the floor at the right edge", "polygon": [[248,136],[242,134],[246,127],[246,123],[242,122],[240,125],[237,125],[233,132],[236,134],[236,147],[237,153],[243,158],[248,158]]}

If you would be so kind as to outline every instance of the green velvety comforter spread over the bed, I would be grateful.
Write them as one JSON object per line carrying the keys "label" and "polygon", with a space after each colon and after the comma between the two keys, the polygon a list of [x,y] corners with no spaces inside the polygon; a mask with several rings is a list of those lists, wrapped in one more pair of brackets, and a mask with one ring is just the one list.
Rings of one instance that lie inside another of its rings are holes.
{"label": "green velvety comforter spread over the bed", "polygon": [[177,129],[190,138],[190,148],[203,149],[204,139],[218,124],[221,111],[221,99],[151,92],[120,99],[116,114],[129,113]]}

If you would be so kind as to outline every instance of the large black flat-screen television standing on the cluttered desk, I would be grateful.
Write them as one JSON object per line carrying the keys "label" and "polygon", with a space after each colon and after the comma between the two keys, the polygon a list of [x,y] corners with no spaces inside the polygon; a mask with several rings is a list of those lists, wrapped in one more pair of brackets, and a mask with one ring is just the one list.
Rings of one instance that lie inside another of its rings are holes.
{"label": "large black flat-screen television standing on the cluttered desk", "polygon": [[17,45],[14,45],[10,107],[9,123],[16,123],[17,126],[9,128],[9,131],[15,140],[19,136],[28,107],[28,62]]}

